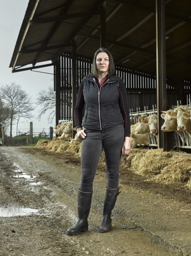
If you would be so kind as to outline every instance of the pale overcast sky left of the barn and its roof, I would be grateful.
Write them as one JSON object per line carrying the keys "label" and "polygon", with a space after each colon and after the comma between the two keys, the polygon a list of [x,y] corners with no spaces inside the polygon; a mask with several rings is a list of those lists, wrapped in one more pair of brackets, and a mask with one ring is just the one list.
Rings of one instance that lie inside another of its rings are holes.
{"label": "pale overcast sky left of the barn and its roof", "polygon": [[[0,0],[0,85],[11,82],[21,85],[22,89],[32,97],[35,103],[37,93],[40,90],[46,89],[50,85],[53,86],[53,76],[30,70],[12,73],[12,69],[9,68],[27,5],[28,0]],[[53,67],[37,69],[37,71],[53,73]],[[35,111],[33,112],[34,118],[20,123],[18,130],[27,132],[30,122],[33,122],[34,132],[41,132],[43,128],[48,132],[50,126],[55,125],[55,120],[52,124],[49,124],[47,122],[47,116],[44,116],[39,122],[36,118],[38,112],[39,109],[35,106]],[[13,136],[16,135],[15,128],[13,130]]]}

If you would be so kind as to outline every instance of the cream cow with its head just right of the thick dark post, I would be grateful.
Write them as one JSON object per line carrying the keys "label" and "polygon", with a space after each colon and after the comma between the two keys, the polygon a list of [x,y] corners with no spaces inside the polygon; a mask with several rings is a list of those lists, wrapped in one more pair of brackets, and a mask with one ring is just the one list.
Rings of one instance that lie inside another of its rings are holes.
{"label": "cream cow with its head just right of the thick dark post", "polygon": [[168,109],[167,111],[163,111],[160,115],[162,119],[164,119],[164,124],[161,126],[161,130],[163,132],[173,132],[175,131],[182,140],[182,145],[184,146],[184,137],[181,131],[177,130],[177,118],[173,115],[173,109]]}

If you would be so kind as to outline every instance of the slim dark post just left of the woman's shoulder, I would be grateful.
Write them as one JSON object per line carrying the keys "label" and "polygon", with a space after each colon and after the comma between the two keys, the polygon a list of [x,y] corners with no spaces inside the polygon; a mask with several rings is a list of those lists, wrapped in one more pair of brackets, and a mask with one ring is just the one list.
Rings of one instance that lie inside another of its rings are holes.
{"label": "slim dark post just left of the woman's shoulder", "polygon": [[[76,105],[77,100],[77,91],[76,91],[76,72],[77,72],[77,44],[76,44],[77,38],[75,37],[73,39],[73,48],[72,48],[72,122],[73,122],[73,128],[75,126],[74,123],[74,108]],[[73,138],[75,137],[76,131],[73,130]]]}

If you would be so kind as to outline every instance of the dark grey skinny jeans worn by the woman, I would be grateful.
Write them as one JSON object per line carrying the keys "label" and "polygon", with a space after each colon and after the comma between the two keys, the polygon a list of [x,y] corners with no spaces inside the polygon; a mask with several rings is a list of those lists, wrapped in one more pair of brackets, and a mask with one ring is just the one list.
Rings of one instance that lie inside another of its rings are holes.
{"label": "dark grey skinny jeans worn by the woman", "polygon": [[123,141],[123,124],[118,124],[102,131],[86,128],[86,137],[82,141],[81,156],[80,190],[82,192],[91,192],[93,190],[93,180],[103,148],[105,151],[107,188],[118,188],[119,164]]}

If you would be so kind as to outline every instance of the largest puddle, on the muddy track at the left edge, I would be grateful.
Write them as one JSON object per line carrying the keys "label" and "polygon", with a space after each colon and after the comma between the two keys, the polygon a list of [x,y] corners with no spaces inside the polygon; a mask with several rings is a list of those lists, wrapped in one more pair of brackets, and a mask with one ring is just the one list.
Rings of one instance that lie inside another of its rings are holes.
{"label": "largest puddle, on the muddy track at the left edge", "polygon": [[30,215],[32,213],[37,213],[38,210],[31,208],[20,208],[20,207],[8,207],[0,208],[0,217],[13,217],[13,216],[23,216]]}

